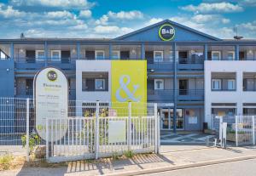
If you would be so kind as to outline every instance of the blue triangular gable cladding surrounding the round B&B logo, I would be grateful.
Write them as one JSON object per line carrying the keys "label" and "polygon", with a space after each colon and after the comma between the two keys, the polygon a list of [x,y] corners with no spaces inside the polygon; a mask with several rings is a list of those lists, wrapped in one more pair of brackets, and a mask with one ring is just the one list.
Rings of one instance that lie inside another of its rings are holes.
{"label": "blue triangular gable cladding surrounding the round B&B logo", "polygon": [[[213,39],[209,37],[205,37],[194,31],[189,31],[188,29],[184,29],[179,26],[172,25],[175,29],[175,37],[172,42],[183,42],[183,41],[213,41]],[[145,31],[141,31],[138,33],[134,33],[131,36],[124,37],[121,40],[125,41],[148,41],[148,42],[160,42],[162,41],[158,35],[158,31],[160,26],[154,26]]]}

